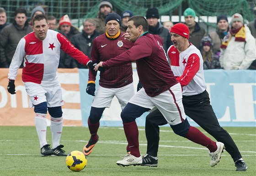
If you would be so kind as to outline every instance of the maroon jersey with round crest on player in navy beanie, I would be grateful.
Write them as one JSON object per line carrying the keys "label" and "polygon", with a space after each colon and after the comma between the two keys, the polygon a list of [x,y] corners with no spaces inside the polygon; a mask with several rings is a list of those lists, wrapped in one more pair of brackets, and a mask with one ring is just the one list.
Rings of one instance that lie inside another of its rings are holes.
{"label": "maroon jersey with round crest on player in navy beanie", "polygon": [[[97,36],[93,41],[91,60],[99,63],[116,57],[133,46],[133,43],[124,40],[122,33],[115,39],[110,39],[106,34]],[[95,81],[96,76],[89,71],[89,81]],[[133,83],[133,68],[131,63],[125,63],[117,67],[109,67],[100,73],[100,86],[104,88],[122,88]]]}

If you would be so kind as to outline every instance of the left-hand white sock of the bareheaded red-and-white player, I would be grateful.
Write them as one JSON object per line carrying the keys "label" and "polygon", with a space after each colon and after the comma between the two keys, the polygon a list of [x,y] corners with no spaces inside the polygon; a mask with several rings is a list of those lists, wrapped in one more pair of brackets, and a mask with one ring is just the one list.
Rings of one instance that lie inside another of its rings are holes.
{"label": "left-hand white sock of the bareheaded red-and-white player", "polygon": [[43,145],[48,144],[46,140],[46,130],[47,130],[46,114],[36,113],[35,125],[37,129],[38,139],[40,142],[40,148],[42,148]]}

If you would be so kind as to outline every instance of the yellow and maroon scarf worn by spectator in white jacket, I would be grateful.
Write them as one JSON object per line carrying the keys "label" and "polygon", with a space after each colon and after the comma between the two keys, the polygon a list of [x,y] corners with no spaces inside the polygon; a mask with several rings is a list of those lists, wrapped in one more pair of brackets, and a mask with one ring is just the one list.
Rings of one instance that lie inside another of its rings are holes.
{"label": "yellow and maroon scarf worn by spectator in white jacket", "polygon": [[231,40],[232,36],[235,36],[235,41],[242,41],[245,42],[245,26],[242,26],[238,29],[234,29],[231,27],[228,34],[224,37],[223,42],[220,46],[220,48],[225,49],[227,48],[229,41]]}

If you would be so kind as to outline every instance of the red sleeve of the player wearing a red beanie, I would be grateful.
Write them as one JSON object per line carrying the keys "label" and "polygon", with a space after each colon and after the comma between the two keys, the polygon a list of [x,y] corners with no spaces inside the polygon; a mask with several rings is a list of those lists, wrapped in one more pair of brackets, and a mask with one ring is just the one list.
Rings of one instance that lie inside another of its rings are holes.
{"label": "red sleeve of the player wearing a red beanie", "polygon": [[200,58],[197,54],[192,54],[188,57],[187,65],[184,69],[183,74],[177,77],[176,80],[181,86],[187,86],[190,81],[194,78],[200,68]]}

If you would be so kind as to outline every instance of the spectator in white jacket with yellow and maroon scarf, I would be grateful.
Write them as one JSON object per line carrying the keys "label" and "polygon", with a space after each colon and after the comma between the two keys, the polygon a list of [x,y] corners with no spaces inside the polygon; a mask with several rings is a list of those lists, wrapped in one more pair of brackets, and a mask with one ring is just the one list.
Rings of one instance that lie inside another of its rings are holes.
{"label": "spectator in white jacket with yellow and maroon scarf", "polygon": [[220,48],[219,62],[225,70],[247,69],[256,59],[255,38],[239,13],[232,16],[231,29]]}

